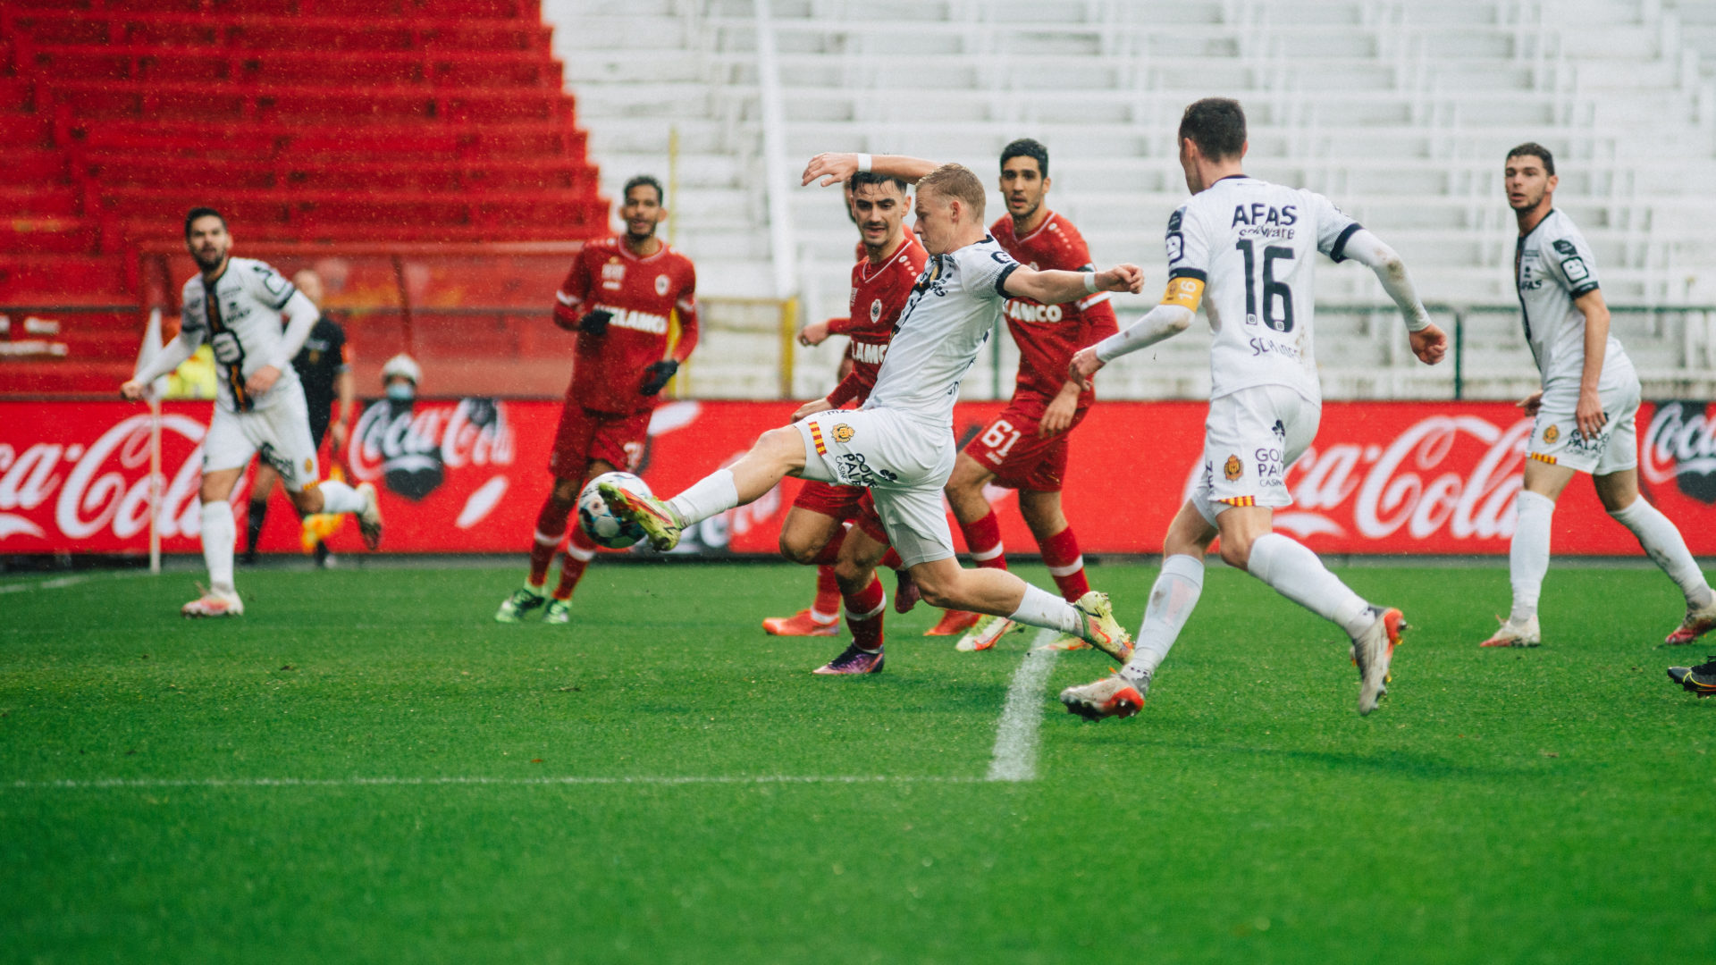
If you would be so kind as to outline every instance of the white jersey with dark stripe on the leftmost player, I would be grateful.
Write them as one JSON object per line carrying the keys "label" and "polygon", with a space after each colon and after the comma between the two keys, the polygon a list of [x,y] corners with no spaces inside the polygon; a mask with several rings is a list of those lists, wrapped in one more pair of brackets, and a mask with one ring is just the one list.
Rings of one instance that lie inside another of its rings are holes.
{"label": "white jersey with dark stripe on the leftmost player", "polygon": [[213,285],[202,282],[201,273],[185,282],[180,326],[196,342],[208,342],[214,350],[218,404],[225,409],[264,409],[299,385],[299,373],[288,364],[280,366],[280,378],[261,397],[252,398],[244,388],[244,379],[266,366],[280,345],[285,335],[280,311],[293,294],[297,288],[292,282],[254,258],[227,259],[227,270]]}

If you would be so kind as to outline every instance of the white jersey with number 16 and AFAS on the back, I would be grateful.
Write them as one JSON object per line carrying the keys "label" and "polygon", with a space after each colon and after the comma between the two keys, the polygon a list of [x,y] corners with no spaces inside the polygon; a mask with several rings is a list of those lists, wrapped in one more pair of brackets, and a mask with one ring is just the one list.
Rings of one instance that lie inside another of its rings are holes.
{"label": "white jersey with number 16 and AFAS on the back", "polygon": [[1311,319],[1316,252],[1342,261],[1359,223],[1314,191],[1224,177],[1169,216],[1169,280],[1205,283],[1210,398],[1285,385],[1321,400]]}

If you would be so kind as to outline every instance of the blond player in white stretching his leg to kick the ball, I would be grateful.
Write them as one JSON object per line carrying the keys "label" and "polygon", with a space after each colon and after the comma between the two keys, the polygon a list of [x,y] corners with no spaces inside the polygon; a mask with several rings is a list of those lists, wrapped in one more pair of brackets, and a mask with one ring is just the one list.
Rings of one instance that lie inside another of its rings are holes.
{"label": "blond player in white stretching his leg to kick the ball", "polygon": [[[867,170],[916,182],[916,228],[932,258],[894,325],[894,340],[863,409],[817,412],[770,429],[738,462],[668,501],[638,498],[616,486],[602,486],[604,500],[616,515],[642,525],[657,549],[669,549],[683,527],[762,496],[784,476],[865,486],[889,541],[930,604],[1009,616],[1074,634],[1107,652],[1129,652],[1131,642],[1107,596],[1090,592],[1072,604],[1006,570],[961,568],[942,512],[942,486],[956,455],[954,397],[988,340],[1000,302],[1018,295],[1062,304],[1095,292],[1138,292],[1143,273],[1133,264],[1097,273],[1021,266],[987,237],[983,184],[961,165],[817,155],[803,184],[820,180],[827,187]],[[861,531],[849,532],[841,546],[836,574],[846,591],[853,646],[819,673],[882,670],[885,599],[873,579],[877,549],[877,541]]]}

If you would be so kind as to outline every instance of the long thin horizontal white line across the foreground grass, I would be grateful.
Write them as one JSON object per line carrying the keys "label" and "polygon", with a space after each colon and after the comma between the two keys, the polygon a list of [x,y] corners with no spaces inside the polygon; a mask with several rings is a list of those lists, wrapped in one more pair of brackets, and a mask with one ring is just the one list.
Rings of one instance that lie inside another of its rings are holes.
{"label": "long thin horizontal white line across the foreground grass", "polygon": [[889,774],[709,774],[626,778],[94,778],[88,781],[10,781],[12,790],[105,790],[105,788],[386,788],[386,786],[553,786],[553,785],[971,785],[982,778],[889,776]]}

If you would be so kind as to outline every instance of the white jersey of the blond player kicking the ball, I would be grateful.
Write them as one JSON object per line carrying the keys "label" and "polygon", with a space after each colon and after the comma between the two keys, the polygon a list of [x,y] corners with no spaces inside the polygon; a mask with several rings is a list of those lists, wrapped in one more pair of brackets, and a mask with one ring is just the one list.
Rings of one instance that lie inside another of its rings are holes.
{"label": "white jersey of the blond player kicking the ball", "polygon": [[952,429],[954,398],[1007,299],[1002,285],[1019,263],[985,235],[932,254],[894,323],[894,340],[865,409],[892,409]]}

